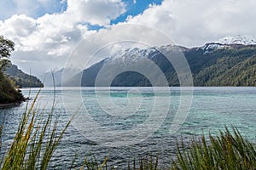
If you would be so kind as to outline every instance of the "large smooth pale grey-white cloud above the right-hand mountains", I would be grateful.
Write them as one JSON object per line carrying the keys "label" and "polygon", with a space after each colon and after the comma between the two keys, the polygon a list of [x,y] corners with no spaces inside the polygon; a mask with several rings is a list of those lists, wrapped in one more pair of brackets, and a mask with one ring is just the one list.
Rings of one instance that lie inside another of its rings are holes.
{"label": "large smooth pale grey-white cloud above the right-hand mountains", "polygon": [[255,6],[253,0],[165,0],[127,22],[153,26],[178,44],[193,47],[227,35],[255,35]]}

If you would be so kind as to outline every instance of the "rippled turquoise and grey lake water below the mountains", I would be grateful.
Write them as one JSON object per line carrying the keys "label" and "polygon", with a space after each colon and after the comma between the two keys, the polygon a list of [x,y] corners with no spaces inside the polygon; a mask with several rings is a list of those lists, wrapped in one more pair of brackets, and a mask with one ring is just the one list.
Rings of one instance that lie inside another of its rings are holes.
{"label": "rippled turquoise and grey lake water below the mountains", "polygon": [[[31,92],[22,89],[22,93],[31,93],[34,98],[38,88]],[[225,125],[237,127],[247,139],[255,141],[256,88],[194,88],[193,95],[186,90],[181,93],[180,88],[56,88],[55,95],[54,116],[59,117],[60,128],[75,112],[77,115],[55,151],[54,168],[67,169],[76,153],[77,166],[85,156],[99,160],[108,156],[109,166],[121,168],[135,157],[148,154],[159,155],[164,167],[176,153],[176,140],[216,134]],[[192,103],[188,115],[179,117],[183,97],[192,99]],[[53,99],[53,88],[43,88],[38,111],[50,111]],[[25,108],[23,103],[0,110],[2,121],[4,117],[2,152],[11,143]],[[170,133],[176,118],[182,126]]]}

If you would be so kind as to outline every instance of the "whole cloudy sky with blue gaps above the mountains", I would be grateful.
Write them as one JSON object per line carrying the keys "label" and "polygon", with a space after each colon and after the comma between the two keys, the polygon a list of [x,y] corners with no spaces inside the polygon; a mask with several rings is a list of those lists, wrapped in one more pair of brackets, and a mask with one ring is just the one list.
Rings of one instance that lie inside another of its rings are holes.
{"label": "whole cloudy sky with blue gaps above the mountains", "polygon": [[[38,76],[65,67],[84,39],[94,38],[90,45],[101,48],[102,39],[152,38],[150,29],[126,25],[148,26],[189,48],[238,34],[256,36],[255,7],[255,0],[1,0],[0,35],[15,42],[12,62]],[[148,41],[160,45],[156,39]]]}

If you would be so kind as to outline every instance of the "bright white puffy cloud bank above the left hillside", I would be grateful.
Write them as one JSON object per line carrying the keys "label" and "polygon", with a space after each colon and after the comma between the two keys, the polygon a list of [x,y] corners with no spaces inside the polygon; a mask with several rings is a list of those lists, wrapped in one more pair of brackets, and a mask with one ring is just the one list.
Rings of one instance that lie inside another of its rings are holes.
{"label": "bright white puffy cloud bank above the left hillside", "polygon": [[[31,8],[33,4],[32,0],[15,1],[20,10]],[[51,1],[37,0],[37,2],[47,7]],[[65,1],[61,2],[65,3]],[[15,14],[7,20],[0,20],[0,32],[4,37],[15,42],[15,53],[12,56],[14,63],[27,65],[30,61],[38,59],[42,61],[40,66],[44,62],[51,63],[47,65],[48,67],[53,65],[61,67],[76,44],[83,37],[95,32],[89,31],[87,24],[108,26],[110,20],[124,12],[125,3],[120,0],[67,0],[67,10],[62,13],[44,14],[35,19],[29,17],[27,12],[27,14]],[[49,62],[54,61],[56,57],[61,62]],[[49,70],[43,68],[41,71],[44,69]],[[28,71],[27,68],[25,70]]]}

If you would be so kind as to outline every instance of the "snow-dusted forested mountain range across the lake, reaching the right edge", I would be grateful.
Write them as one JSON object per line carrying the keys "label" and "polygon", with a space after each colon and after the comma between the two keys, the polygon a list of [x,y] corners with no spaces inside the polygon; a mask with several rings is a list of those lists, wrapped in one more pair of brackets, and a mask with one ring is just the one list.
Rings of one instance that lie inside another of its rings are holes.
{"label": "snow-dusted forested mountain range across the lake, reaching the right edge", "polygon": [[[160,50],[159,50],[160,49]],[[75,86],[74,82],[81,79],[81,86],[93,87],[102,67],[108,68],[98,86],[106,86],[113,68],[125,65],[143,65],[144,59],[150,59],[164,73],[169,86],[179,86],[177,73],[172,64],[160,53],[181,51],[187,59],[192,72],[194,86],[256,86],[256,40],[254,37],[224,37],[218,42],[210,42],[202,47],[185,48],[182,46],[161,46],[154,48],[126,48],[111,57],[91,65],[81,71],[63,86]],[[150,71],[150,68],[148,68]],[[154,77],[154,81],[159,81]],[[59,83],[60,85],[60,83]],[[147,77],[135,71],[125,71],[116,75],[111,86],[151,86]]]}

